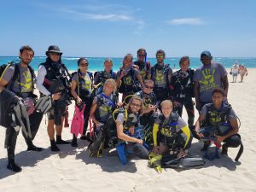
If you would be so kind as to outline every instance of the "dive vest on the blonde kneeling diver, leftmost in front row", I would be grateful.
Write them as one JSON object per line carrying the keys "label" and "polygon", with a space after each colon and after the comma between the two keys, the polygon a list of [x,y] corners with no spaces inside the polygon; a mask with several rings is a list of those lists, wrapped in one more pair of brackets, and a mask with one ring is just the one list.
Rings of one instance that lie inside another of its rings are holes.
{"label": "dive vest on the blonde kneeling diver, leftmost in front row", "polygon": [[96,98],[97,108],[95,111],[95,118],[101,123],[106,123],[108,117],[112,115],[114,108],[116,108],[114,96],[112,95],[112,98],[108,98],[101,93],[97,95]]}

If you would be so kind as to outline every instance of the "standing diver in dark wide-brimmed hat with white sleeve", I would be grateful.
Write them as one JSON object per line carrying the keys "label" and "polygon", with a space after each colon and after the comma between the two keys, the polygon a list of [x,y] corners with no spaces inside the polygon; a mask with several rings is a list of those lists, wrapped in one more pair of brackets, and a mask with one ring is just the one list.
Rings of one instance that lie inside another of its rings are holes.
{"label": "standing diver in dark wide-brimmed hat with white sleeve", "polygon": [[67,77],[69,74],[67,67],[61,61],[62,52],[58,46],[50,45],[45,54],[47,55],[46,61],[38,67],[37,87],[41,96],[51,96],[52,98],[53,106],[47,112],[47,131],[51,151],[60,151],[56,144],[69,143],[61,139],[65,110],[70,104],[68,97],[70,88]]}

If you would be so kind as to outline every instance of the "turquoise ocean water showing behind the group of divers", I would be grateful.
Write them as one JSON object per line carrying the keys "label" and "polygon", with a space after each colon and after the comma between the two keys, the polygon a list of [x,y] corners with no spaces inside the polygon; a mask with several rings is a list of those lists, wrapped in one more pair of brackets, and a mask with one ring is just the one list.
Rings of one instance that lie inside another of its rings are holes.
{"label": "turquoise ocean water showing behind the group of divers", "polygon": [[[31,62],[31,66],[37,71],[38,65],[45,61],[45,56],[35,56]],[[179,57],[166,58],[165,63],[169,63],[172,68],[179,68],[178,62]],[[190,67],[197,68],[201,66],[201,61],[199,57],[190,57]],[[17,56],[0,56],[0,65],[7,63],[9,61],[19,60]],[[77,70],[77,61],[79,57],[62,57],[62,62],[66,64],[68,70]],[[88,57],[89,61],[89,71],[100,71],[103,69],[104,57]],[[113,60],[113,70],[118,71],[119,67],[122,66],[123,58],[112,58]],[[155,58],[148,58],[151,65],[156,63]],[[231,68],[235,61],[239,64],[244,63],[247,68],[256,68],[256,57],[213,57],[213,61],[218,61],[226,68]]]}

